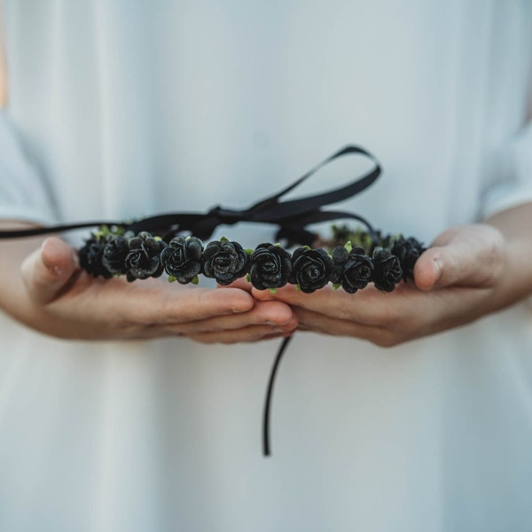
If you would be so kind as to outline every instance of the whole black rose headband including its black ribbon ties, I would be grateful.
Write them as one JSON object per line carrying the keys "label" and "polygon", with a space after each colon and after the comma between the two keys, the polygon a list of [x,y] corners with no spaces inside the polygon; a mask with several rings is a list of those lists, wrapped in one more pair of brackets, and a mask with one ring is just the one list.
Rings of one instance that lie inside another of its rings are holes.
{"label": "whole black rose headband including its black ribbon ties", "polygon": [[[321,194],[282,201],[286,193],[313,176],[332,160],[348,154],[368,157],[374,168],[347,185]],[[79,250],[80,265],[94,277],[126,276],[129,282],[157,278],[166,272],[170,282],[197,284],[199,276],[214,278],[227,286],[246,277],[259,290],[275,292],[286,284],[303,293],[313,293],[332,283],[356,293],[369,283],[383,293],[413,278],[413,270],[425,247],[403,235],[383,235],[362,216],[351,212],[326,211],[322,207],[356,195],[372,185],[381,173],[378,160],[361,147],[348,145],[320,162],[286,189],[244,210],[214,207],[206,214],[172,213],[137,222],[95,221],[55,225],[31,230],[0,231],[0,239],[13,239],[54,232],[98,227]],[[338,219],[356,220],[364,229],[332,226],[332,239],[320,240],[307,226]],[[222,238],[208,242],[222,224],[271,223],[278,226],[276,241],[295,247],[291,253],[279,243],[262,243],[245,249]],[[318,244],[318,246],[317,246]],[[324,244],[319,246],[319,244]],[[263,411],[263,454],[270,455],[270,404],[278,366],[292,337],[284,339],[270,372]]]}

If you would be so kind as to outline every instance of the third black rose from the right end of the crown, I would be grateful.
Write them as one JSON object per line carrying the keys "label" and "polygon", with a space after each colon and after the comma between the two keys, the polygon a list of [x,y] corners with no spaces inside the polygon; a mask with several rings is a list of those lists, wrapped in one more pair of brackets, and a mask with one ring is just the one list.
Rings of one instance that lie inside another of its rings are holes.
{"label": "third black rose from the right end of the crown", "polygon": [[332,262],[332,282],[341,284],[348,293],[362,290],[372,280],[372,257],[365,254],[362,247],[353,247],[349,252],[344,246],[335,247],[332,250]]}

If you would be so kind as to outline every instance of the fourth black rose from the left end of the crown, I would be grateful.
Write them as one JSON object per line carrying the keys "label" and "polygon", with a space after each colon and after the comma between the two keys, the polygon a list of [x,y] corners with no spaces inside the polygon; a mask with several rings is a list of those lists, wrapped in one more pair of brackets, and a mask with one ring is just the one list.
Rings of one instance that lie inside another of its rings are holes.
{"label": "fourth black rose from the left end of the crown", "polygon": [[175,277],[178,283],[190,283],[201,271],[203,244],[196,237],[174,237],[168,242],[160,259],[168,275]]}

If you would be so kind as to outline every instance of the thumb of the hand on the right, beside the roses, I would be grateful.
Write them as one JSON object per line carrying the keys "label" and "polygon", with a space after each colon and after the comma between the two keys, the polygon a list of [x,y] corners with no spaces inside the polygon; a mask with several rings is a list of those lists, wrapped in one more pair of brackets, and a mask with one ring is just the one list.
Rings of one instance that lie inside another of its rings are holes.
{"label": "thumb of the hand on the right, beside the roses", "polygon": [[504,269],[505,241],[489,225],[470,225],[445,231],[419,257],[416,286],[431,290],[446,286],[492,286]]}

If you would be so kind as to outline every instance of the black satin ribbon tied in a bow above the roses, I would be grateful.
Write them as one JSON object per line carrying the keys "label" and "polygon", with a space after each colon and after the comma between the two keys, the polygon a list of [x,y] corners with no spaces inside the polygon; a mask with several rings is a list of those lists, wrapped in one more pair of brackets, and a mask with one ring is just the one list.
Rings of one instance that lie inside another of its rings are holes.
{"label": "black satin ribbon tied in a bow above the roses", "polygon": [[[283,196],[293,191],[297,186],[317,173],[320,168],[348,154],[361,154],[371,159],[375,166],[367,174],[357,178],[349,184],[333,189],[329,192],[315,194],[296,200],[282,201]],[[160,235],[163,239],[171,239],[179,232],[190,231],[199,239],[208,239],[219,225],[234,225],[239,222],[272,223],[278,225],[278,239],[289,239],[299,244],[310,245],[315,235],[305,229],[311,223],[328,222],[340,218],[348,218],[364,223],[370,233],[374,233],[372,225],[362,216],[342,211],[324,211],[321,207],[338,203],[355,196],[373,184],[381,172],[379,161],[359,146],[348,145],[327,159],[322,160],[304,176],[287,186],[281,192],[265,200],[255,203],[243,210],[233,210],[225,207],[214,207],[207,213],[171,213],[155,215],[134,223],[113,222],[109,220],[90,221],[42,227],[38,229],[0,231],[0,239],[17,239],[55,232],[73,231],[86,227],[100,225],[119,226],[126,231],[135,233],[148,231]]]}

